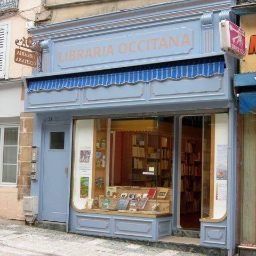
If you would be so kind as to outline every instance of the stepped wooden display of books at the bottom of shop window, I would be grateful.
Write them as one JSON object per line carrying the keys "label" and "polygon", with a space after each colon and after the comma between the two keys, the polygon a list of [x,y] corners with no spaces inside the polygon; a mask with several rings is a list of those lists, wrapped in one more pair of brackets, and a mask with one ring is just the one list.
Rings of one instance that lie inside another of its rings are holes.
{"label": "stepped wooden display of books at the bottom of shop window", "polygon": [[106,193],[86,199],[85,209],[131,214],[171,214],[171,188],[107,187]]}

